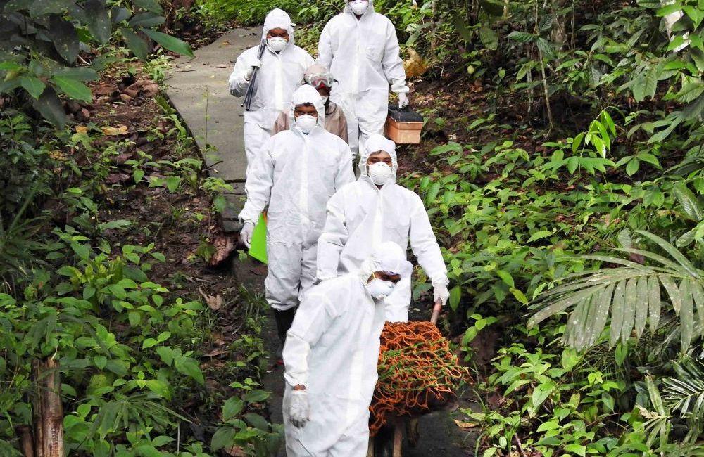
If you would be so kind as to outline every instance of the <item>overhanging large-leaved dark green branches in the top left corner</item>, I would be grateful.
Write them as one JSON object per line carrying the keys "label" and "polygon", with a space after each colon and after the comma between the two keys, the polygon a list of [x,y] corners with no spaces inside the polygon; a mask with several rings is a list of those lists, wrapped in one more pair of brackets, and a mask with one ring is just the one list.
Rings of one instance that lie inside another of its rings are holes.
{"label": "overhanging large-leaved dark green branches in the top left corner", "polygon": [[153,30],[164,22],[156,1],[4,0],[0,11],[0,94],[22,89],[34,109],[57,127],[68,122],[60,95],[91,101],[84,83],[97,79],[96,70],[104,65],[104,58],[95,58],[90,66],[77,66],[85,62],[82,49],[104,47],[111,37],[121,37],[142,60],[149,53],[149,39],[192,55],[184,41]]}

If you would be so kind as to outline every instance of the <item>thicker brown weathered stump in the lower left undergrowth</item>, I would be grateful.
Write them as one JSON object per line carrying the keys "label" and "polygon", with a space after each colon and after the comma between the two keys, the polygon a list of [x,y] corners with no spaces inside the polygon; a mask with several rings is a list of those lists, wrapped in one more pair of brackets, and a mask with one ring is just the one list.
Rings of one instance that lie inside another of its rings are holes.
{"label": "thicker brown weathered stump in the lower left undergrowth", "polygon": [[63,457],[63,406],[58,361],[34,363],[34,453],[36,457]]}

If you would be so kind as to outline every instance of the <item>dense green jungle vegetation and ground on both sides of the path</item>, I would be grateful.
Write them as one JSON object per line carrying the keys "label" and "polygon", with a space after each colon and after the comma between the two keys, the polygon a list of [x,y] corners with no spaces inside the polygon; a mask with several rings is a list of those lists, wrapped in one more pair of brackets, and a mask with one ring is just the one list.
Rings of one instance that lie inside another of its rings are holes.
{"label": "dense green jungle vegetation and ground on both sides of the path", "polygon": [[[266,304],[223,262],[232,188],[163,79],[272,8],[315,57],[343,6],[0,0],[0,456],[22,455],[38,410],[71,456],[279,446]],[[426,120],[400,174],[448,264],[467,453],[704,454],[704,2],[375,8]],[[38,408],[53,363],[62,395]]]}

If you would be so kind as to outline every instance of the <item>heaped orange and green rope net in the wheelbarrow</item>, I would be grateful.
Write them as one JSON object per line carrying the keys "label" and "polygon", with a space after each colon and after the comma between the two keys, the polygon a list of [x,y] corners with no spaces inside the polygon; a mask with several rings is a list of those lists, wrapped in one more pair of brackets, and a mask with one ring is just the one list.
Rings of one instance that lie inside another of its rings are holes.
{"label": "heaped orange and green rope net in the wheelbarrow", "polygon": [[370,406],[372,436],[390,418],[441,408],[454,397],[460,382],[469,379],[448,340],[427,321],[386,322],[377,372]]}

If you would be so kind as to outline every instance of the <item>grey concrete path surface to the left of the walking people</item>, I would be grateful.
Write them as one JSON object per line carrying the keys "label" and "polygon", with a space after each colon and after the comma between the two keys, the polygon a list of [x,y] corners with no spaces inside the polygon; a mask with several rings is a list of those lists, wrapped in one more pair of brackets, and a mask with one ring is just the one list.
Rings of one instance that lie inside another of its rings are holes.
{"label": "grey concrete path surface to the left of the walking people", "polygon": [[239,231],[237,214],[242,206],[247,160],[244,154],[244,118],[241,98],[228,91],[227,79],[237,56],[259,44],[261,29],[237,28],[194,57],[173,61],[166,79],[166,93],[205,157],[210,176],[232,184],[227,209],[222,214],[225,231]]}

